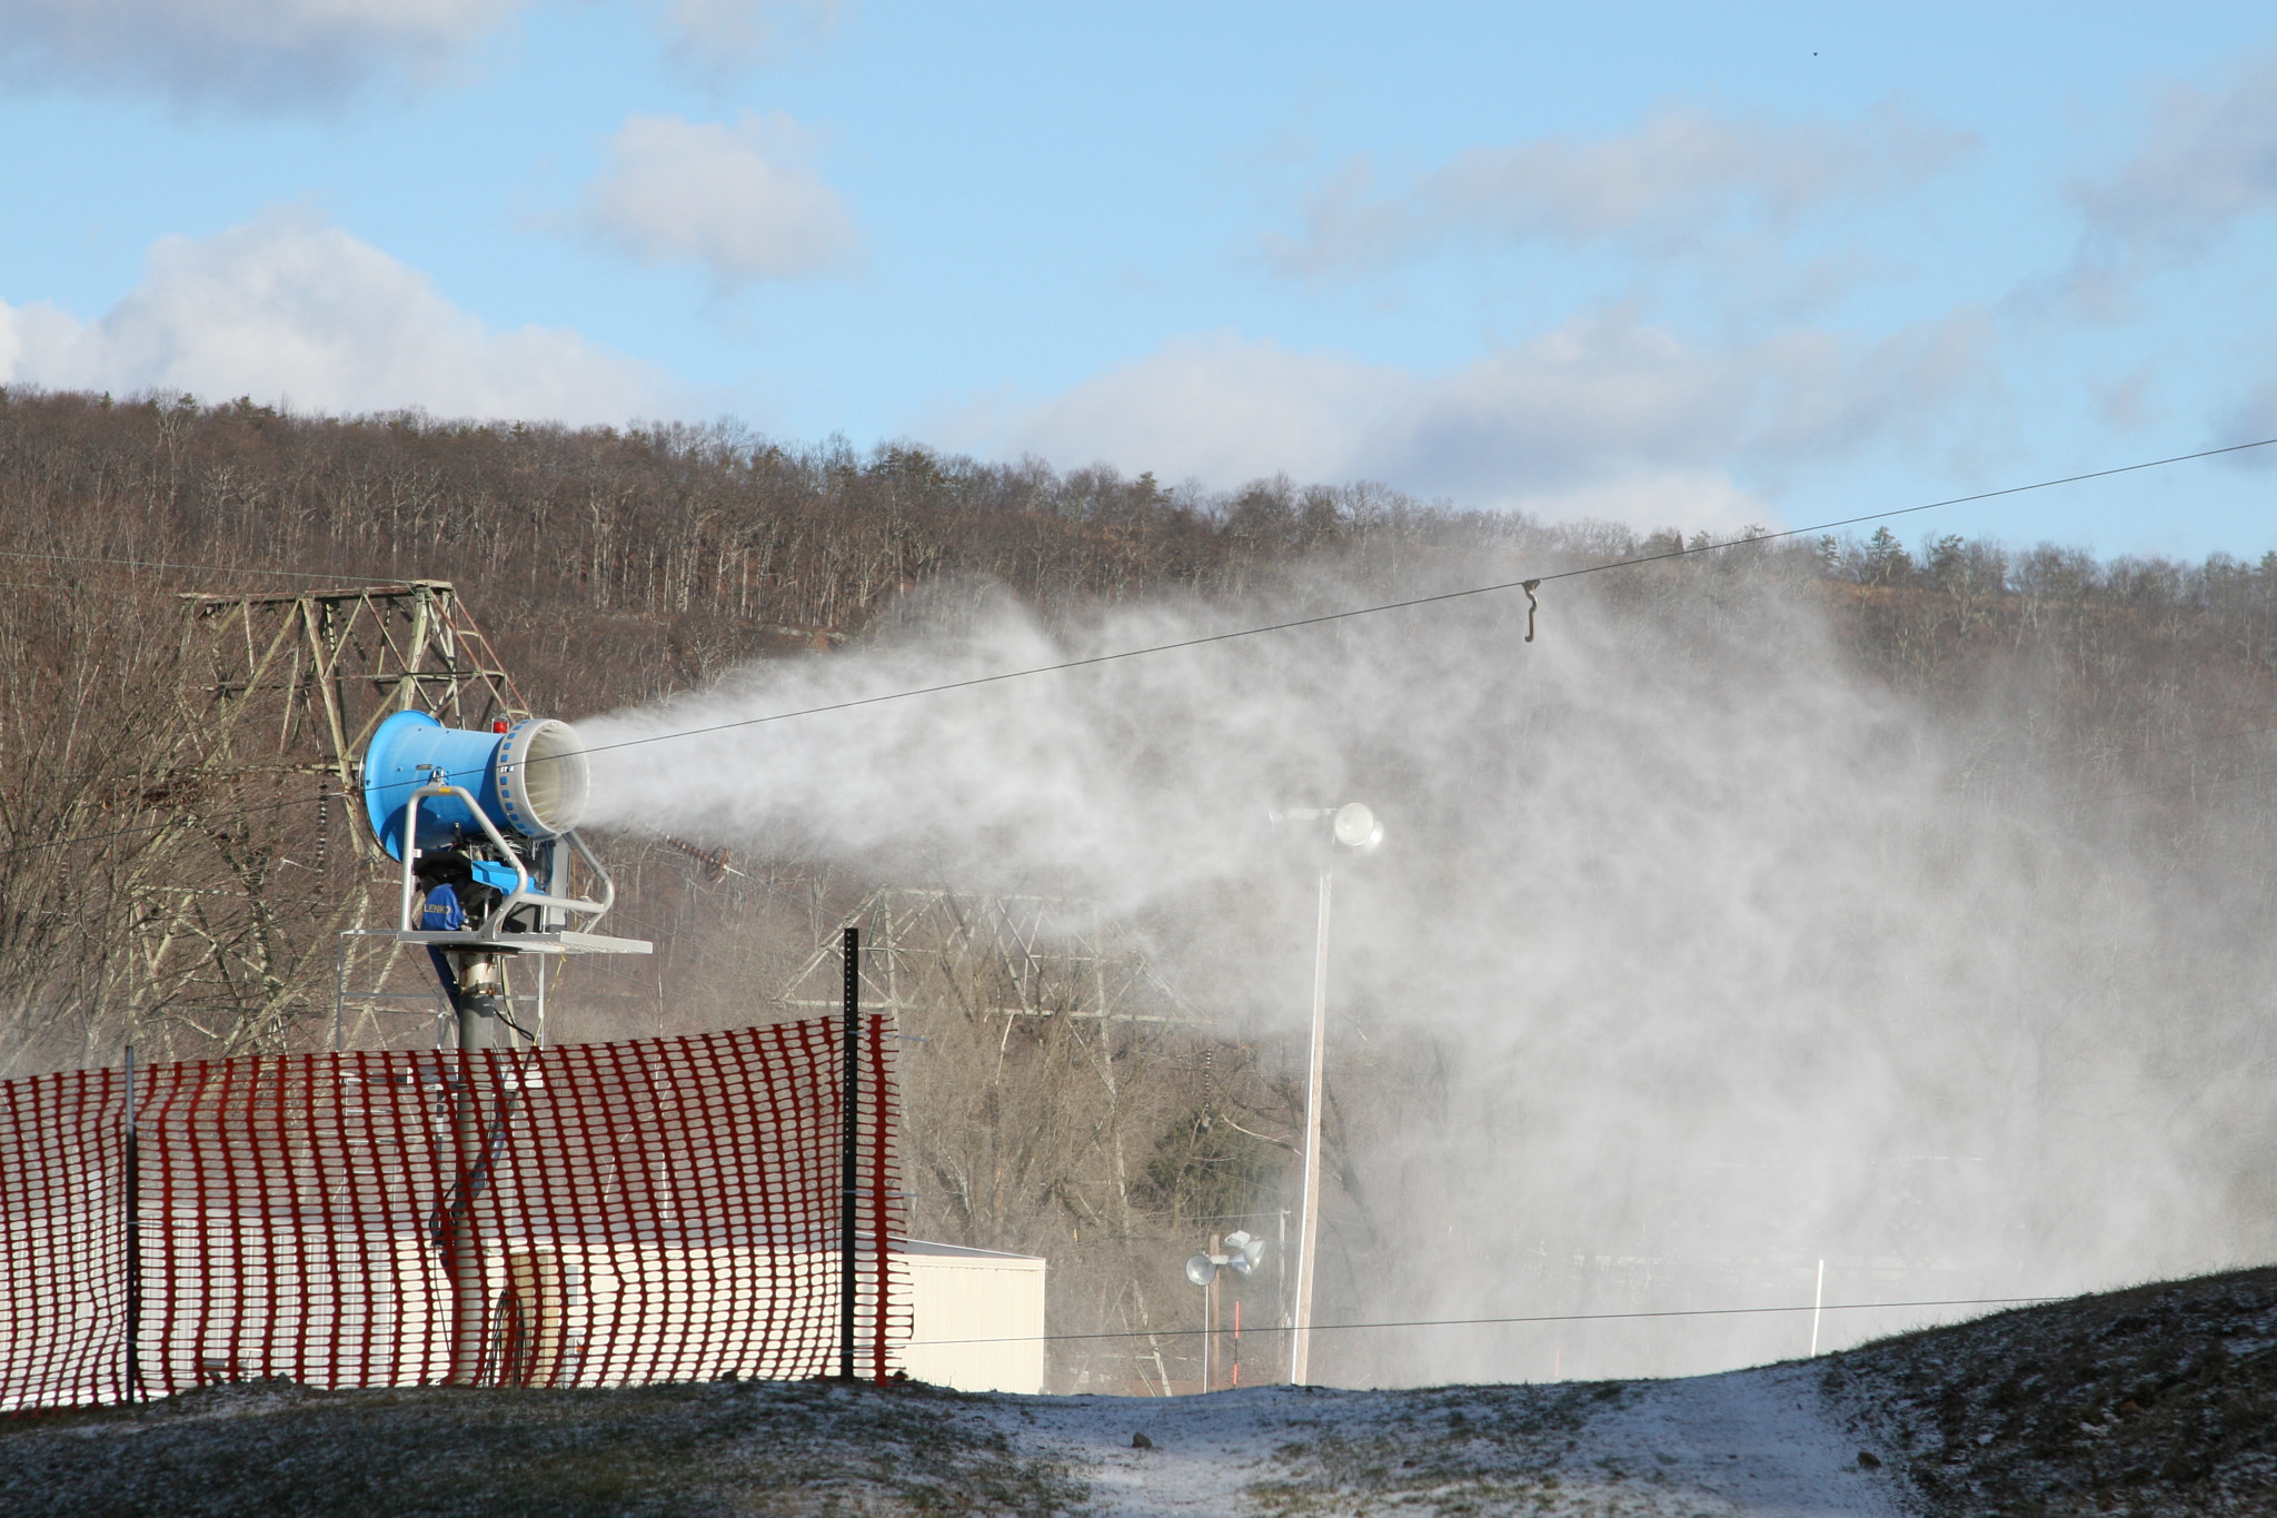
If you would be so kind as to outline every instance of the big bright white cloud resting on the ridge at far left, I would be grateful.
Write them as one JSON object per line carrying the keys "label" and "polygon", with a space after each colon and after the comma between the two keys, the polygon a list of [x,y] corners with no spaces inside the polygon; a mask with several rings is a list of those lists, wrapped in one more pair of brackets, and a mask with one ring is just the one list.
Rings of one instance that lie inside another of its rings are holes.
{"label": "big bright white cloud resting on the ridge at far left", "polygon": [[665,394],[660,376],[576,332],[494,332],[417,269],[296,212],[159,241],[143,282],[98,321],[0,305],[0,380],[572,423],[653,414]]}

